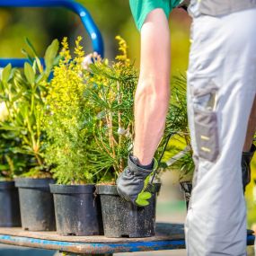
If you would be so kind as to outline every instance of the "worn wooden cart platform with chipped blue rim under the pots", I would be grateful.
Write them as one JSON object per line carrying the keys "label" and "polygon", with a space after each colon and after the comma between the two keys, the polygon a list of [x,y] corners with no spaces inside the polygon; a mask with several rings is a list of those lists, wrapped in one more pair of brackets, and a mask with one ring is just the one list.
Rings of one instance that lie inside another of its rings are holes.
{"label": "worn wooden cart platform with chipped blue rim under the pots", "polygon": [[[253,245],[248,234],[247,244]],[[74,253],[111,255],[115,252],[146,252],[185,249],[184,225],[158,223],[154,237],[107,238],[105,236],[62,236],[56,232],[31,232],[22,228],[0,228],[0,243]],[[70,255],[70,254],[69,254]]]}

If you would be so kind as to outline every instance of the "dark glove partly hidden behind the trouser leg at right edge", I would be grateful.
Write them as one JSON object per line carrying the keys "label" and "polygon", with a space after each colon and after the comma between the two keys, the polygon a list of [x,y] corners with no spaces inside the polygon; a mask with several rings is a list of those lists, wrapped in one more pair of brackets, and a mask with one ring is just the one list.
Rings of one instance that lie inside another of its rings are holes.
{"label": "dark glove partly hidden behind the trouser leg at right edge", "polygon": [[251,150],[242,154],[243,192],[245,192],[245,187],[251,181],[251,161],[255,150],[256,146],[252,144]]}

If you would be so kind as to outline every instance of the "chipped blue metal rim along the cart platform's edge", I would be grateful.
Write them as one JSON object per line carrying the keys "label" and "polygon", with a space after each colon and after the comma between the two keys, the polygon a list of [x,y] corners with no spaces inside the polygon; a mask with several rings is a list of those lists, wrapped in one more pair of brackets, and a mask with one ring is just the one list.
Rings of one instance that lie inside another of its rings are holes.
{"label": "chipped blue metal rim along the cart platform's edge", "polygon": [[[247,245],[254,244],[254,235],[247,235]],[[149,252],[160,250],[185,249],[185,240],[156,240],[144,242],[123,243],[82,243],[82,242],[63,242],[47,239],[38,239],[16,235],[0,234],[0,243],[26,246],[32,248],[57,250],[65,252],[65,255],[111,255],[117,252]],[[60,253],[61,254],[61,253]]]}

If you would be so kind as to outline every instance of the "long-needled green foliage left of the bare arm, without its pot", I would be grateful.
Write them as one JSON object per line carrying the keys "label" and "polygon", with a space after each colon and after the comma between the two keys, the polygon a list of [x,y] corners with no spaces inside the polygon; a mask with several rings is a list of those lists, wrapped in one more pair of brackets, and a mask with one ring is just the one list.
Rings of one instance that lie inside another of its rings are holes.
{"label": "long-needled green foliage left of the bare arm, without its pot", "polygon": [[127,164],[134,138],[134,93],[137,70],[127,55],[127,44],[119,36],[120,54],[116,61],[95,60],[84,97],[95,115],[91,119],[93,148],[89,162],[99,182],[115,183]]}

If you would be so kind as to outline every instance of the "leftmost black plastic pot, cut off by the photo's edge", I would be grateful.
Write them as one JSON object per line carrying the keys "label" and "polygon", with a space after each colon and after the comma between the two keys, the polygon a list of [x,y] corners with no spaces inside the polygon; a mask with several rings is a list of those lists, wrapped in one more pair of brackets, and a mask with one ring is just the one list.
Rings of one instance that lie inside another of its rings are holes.
{"label": "leftmost black plastic pot, cut off by the photo's edge", "polygon": [[21,226],[19,194],[14,181],[0,181],[0,226]]}

